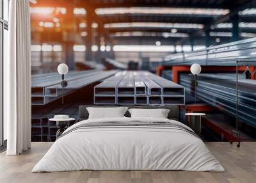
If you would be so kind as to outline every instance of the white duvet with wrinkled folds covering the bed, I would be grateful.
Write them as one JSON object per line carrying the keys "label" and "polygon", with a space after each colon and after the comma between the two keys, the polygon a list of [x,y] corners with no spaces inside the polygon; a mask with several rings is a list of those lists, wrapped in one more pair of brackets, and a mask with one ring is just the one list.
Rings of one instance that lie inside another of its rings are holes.
{"label": "white duvet with wrinkled folds covering the bed", "polygon": [[[168,127],[95,127],[92,122],[180,122],[163,118],[84,120],[69,127],[32,172],[72,170],[225,171],[204,142],[189,132]],[[68,131],[71,131],[68,133]]]}

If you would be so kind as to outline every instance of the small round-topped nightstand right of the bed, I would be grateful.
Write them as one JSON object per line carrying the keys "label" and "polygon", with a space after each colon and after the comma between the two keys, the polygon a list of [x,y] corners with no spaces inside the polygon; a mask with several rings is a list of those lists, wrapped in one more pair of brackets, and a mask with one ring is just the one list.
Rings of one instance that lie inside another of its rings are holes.
{"label": "small round-topped nightstand right of the bed", "polygon": [[196,132],[196,134],[201,133],[202,124],[201,116],[205,116],[205,113],[186,113],[186,116],[189,116],[189,127]]}

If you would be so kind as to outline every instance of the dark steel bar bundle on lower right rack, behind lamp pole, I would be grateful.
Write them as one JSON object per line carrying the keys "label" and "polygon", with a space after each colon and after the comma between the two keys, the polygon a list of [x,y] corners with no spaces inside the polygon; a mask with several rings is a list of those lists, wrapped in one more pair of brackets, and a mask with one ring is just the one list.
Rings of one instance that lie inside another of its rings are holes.
{"label": "dark steel bar bundle on lower right rack, behind lamp pole", "polygon": [[[194,93],[193,76],[181,74],[180,84],[186,92]],[[238,117],[240,122],[256,127],[256,81],[240,79],[238,83]],[[229,115],[236,116],[236,81],[200,76],[197,86],[198,98],[211,106],[218,107]]]}

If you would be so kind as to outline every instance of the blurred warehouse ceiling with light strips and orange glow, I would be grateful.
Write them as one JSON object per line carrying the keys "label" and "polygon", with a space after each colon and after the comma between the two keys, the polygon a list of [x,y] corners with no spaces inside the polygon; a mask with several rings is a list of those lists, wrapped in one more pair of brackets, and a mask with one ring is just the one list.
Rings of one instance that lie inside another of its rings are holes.
{"label": "blurred warehouse ceiling with light strips and orange glow", "polygon": [[254,37],[255,1],[31,0],[32,32],[46,34],[41,38],[51,36],[47,32],[49,29],[86,36],[90,20],[92,27],[109,42],[125,42],[130,38],[147,42],[148,37],[154,37],[172,44],[186,44],[195,38],[194,44],[202,45],[205,31],[212,39],[230,42],[232,21],[236,15],[239,18],[239,39]]}

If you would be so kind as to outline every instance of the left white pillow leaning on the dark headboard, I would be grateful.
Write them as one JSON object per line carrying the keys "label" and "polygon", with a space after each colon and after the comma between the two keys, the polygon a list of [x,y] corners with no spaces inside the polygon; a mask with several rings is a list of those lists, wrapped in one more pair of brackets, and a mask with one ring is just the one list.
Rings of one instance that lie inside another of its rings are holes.
{"label": "left white pillow leaning on the dark headboard", "polygon": [[128,107],[86,107],[89,117],[96,118],[120,118],[125,117],[124,114]]}

